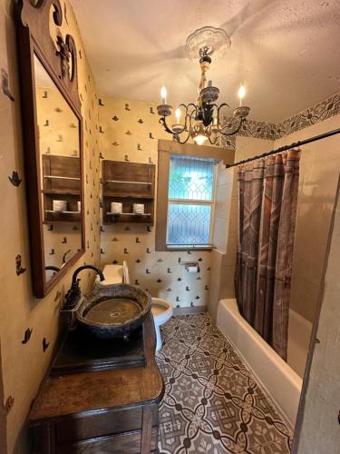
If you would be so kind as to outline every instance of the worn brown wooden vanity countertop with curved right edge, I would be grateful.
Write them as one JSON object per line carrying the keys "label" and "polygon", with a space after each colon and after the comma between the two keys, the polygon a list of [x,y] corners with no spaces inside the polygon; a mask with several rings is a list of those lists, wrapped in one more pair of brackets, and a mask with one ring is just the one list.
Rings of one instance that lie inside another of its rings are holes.
{"label": "worn brown wooden vanity countertop with curved right edge", "polygon": [[151,312],[144,323],[144,367],[49,376],[34,400],[30,424],[93,410],[158,404],[164,393],[164,383],[155,361],[156,340]]}

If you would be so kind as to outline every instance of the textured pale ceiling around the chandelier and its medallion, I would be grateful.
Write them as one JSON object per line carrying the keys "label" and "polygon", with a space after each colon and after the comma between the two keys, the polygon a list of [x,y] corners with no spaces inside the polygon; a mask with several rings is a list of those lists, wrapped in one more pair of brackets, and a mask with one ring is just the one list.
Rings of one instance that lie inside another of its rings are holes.
{"label": "textured pale ceiling around the chandelier and its medallion", "polygon": [[199,64],[184,55],[204,25],[231,38],[211,64],[219,102],[247,88],[250,117],[273,123],[340,91],[340,0],[71,0],[98,92],[176,105],[196,97]]}

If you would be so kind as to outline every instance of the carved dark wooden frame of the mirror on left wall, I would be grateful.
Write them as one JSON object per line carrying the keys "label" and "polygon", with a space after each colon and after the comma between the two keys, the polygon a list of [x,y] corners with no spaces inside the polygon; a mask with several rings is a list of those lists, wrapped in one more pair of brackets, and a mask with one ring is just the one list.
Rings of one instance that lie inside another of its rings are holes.
{"label": "carved dark wooden frame of the mirror on left wall", "polygon": [[[17,14],[17,50],[19,60],[22,120],[24,133],[24,167],[30,230],[33,291],[37,298],[53,289],[85,252],[84,197],[83,197],[83,117],[78,94],[77,54],[71,35],[50,37],[50,11],[54,25],[63,24],[63,10],[59,0],[21,0]],[[82,202],[82,247],[49,281],[45,279],[43,203],[41,200],[39,135],[34,80],[34,54],[53,80],[63,98],[79,121],[79,157]],[[71,74],[70,74],[71,62]]]}

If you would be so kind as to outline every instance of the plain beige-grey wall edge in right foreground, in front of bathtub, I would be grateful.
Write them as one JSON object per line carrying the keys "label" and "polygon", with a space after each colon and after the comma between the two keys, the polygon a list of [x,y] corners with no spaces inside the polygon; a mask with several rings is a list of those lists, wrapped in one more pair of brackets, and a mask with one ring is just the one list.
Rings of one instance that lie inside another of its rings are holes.
{"label": "plain beige-grey wall edge in right foreground, in front of bathtub", "polygon": [[[333,190],[333,187],[332,187]],[[306,404],[299,442],[294,452],[319,454],[339,452],[340,396],[340,203],[337,202],[334,230],[330,233],[322,307],[306,389]]]}

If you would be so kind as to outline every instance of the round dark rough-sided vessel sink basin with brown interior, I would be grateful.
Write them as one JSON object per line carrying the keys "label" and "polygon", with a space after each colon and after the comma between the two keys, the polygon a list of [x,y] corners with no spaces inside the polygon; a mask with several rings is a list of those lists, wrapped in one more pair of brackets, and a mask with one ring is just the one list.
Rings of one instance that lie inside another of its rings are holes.
{"label": "round dark rough-sided vessel sink basin with brown interior", "polygon": [[151,295],[130,284],[96,285],[75,312],[79,328],[101,339],[126,338],[151,311]]}

